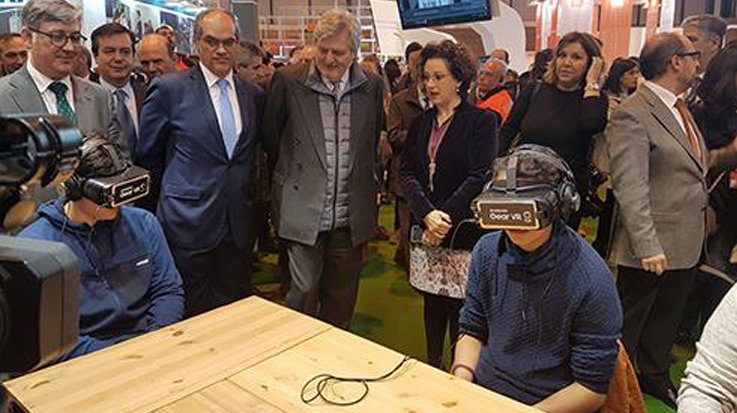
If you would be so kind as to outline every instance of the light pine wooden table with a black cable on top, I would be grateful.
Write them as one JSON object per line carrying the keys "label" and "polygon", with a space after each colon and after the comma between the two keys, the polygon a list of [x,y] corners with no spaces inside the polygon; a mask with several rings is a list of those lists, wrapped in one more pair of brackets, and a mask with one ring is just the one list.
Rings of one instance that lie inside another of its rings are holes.
{"label": "light pine wooden table with a black cable on top", "polygon": [[[355,406],[300,400],[317,374],[381,376],[402,357],[252,297],[3,385],[33,413],[537,412],[416,360],[370,383]],[[359,390],[339,384],[330,394]]]}

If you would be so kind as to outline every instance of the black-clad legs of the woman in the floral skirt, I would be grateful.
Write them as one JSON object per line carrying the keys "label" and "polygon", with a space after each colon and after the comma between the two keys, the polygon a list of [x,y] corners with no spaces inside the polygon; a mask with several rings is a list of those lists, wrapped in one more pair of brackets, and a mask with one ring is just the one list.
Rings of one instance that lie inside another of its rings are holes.
{"label": "black-clad legs of the woman in the floral skirt", "polygon": [[458,313],[463,300],[424,293],[425,341],[427,362],[433,367],[443,368],[443,345],[445,332],[450,328],[451,358],[458,339]]}

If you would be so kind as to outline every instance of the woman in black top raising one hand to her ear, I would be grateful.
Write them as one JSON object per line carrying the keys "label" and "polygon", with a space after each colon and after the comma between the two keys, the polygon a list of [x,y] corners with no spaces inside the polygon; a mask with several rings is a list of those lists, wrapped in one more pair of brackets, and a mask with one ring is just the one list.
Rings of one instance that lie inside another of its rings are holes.
{"label": "woman in black top raising one hand to her ear", "polygon": [[[600,92],[604,71],[601,46],[587,33],[563,36],[542,82],[528,85],[514,102],[501,131],[501,151],[523,143],[555,150],[573,169],[576,189],[588,192],[592,137],[607,122],[607,99]],[[580,212],[568,225],[578,229]]]}

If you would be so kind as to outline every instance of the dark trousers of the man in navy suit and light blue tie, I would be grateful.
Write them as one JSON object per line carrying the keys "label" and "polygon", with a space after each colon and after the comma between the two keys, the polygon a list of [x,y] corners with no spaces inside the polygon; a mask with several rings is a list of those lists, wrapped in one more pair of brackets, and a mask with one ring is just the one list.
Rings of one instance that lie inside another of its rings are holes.
{"label": "dark trousers of the man in navy suit and light blue tie", "polygon": [[192,317],[251,295],[251,252],[224,239],[208,251],[171,248]]}

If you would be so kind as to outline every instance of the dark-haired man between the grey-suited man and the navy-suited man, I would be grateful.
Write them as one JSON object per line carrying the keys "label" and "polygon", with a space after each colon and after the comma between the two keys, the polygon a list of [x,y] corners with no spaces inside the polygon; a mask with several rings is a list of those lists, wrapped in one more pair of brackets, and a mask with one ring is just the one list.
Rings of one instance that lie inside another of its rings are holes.
{"label": "dark-haired man between the grey-suited man and the navy-suited man", "polygon": [[102,85],[115,98],[121,138],[130,153],[134,153],[138,115],[146,93],[143,80],[132,76],[135,36],[120,23],[107,23],[92,32],[91,41],[97,71],[90,80]]}

